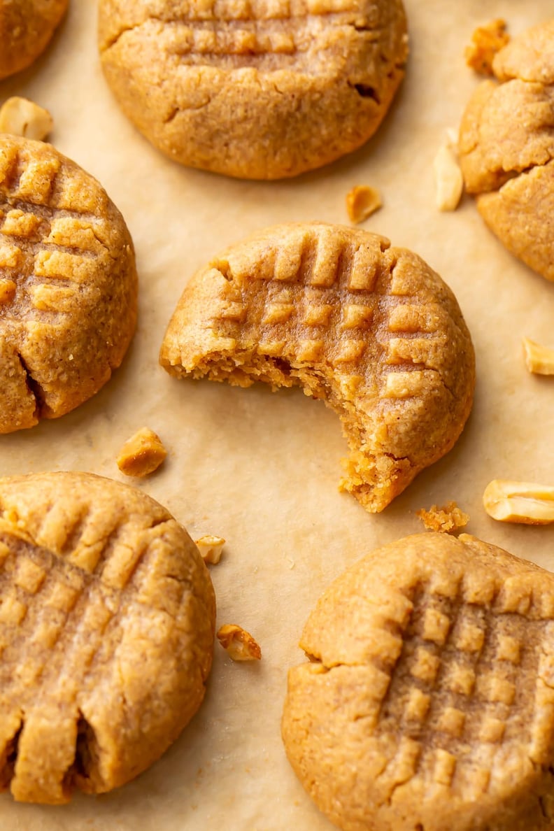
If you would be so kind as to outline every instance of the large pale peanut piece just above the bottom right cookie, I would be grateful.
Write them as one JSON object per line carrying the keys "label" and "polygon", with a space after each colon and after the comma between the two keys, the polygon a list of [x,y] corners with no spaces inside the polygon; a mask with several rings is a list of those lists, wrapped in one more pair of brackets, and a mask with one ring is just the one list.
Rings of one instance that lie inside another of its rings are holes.
{"label": "large pale peanut piece just above the bottom right cookie", "polygon": [[483,505],[488,515],[499,522],[554,523],[554,488],[546,484],[494,479],[485,488]]}

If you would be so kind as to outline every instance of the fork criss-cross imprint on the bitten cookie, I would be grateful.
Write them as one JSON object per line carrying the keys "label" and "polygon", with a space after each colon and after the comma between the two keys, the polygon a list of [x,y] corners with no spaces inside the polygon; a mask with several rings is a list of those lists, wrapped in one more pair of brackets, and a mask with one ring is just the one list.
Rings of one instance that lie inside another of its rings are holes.
{"label": "fork criss-cross imprint on the bitten cookie", "polygon": [[377,375],[380,396],[418,396],[438,381],[435,359],[452,322],[414,295],[395,264],[385,240],[346,242],[316,227],[215,261],[228,277],[212,317],[218,349],[257,342],[272,358],[328,361],[351,388],[375,390]]}

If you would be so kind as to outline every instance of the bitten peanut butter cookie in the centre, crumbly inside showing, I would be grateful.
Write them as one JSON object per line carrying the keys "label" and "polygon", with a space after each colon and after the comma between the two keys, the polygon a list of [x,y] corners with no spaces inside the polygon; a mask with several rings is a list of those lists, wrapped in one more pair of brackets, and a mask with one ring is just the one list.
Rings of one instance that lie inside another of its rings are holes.
{"label": "bitten peanut butter cookie in the centre, crumbly inside showing", "polygon": [[342,487],[370,511],[450,450],[473,401],[448,286],[416,254],[341,225],[277,225],[214,258],[185,288],[160,362],[321,398],[351,450]]}

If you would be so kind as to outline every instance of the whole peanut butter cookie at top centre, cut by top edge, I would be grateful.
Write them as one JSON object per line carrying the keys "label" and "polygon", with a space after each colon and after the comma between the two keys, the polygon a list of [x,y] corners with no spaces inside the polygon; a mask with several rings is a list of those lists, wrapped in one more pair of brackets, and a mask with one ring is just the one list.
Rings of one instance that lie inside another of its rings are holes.
{"label": "whole peanut butter cookie at top centre, cut by top edge", "polygon": [[404,76],[402,0],[101,0],[125,115],[183,165],[279,179],[375,133]]}

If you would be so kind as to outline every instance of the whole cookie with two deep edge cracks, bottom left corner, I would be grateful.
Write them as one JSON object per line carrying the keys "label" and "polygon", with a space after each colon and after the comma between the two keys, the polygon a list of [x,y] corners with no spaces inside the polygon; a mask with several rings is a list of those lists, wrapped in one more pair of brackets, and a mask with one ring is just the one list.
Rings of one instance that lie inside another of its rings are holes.
{"label": "whole cookie with two deep edge cracks, bottom left corner", "polygon": [[110,479],[0,479],[0,785],[66,802],[140,774],[198,710],[215,600],[189,534]]}

